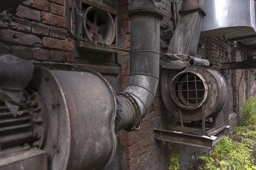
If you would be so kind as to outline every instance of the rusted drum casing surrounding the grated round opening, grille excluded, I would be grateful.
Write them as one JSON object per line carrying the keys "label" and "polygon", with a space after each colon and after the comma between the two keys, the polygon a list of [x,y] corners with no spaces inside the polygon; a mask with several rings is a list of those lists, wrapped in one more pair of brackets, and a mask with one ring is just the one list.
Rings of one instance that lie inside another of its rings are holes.
{"label": "rusted drum casing surrounding the grated round opening, grille excluded", "polygon": [[[217,71],[209,70],[205,68],[186,68],[186,71],[197,72],[201,74],[205,81],[205,86],[208,87],[208,94],[205,99],[205,117],[211,117],[218,114],[223,108],[227,101],[227,82],[224,77]],[[170,87],[172,84],[172,77],[175,77],[179,71],[176,73],[161,72],[161,94],[166,107],[175,116],[179,117],[178,109],[180,108],[174,102],[174,98],[171,94]],[[172,89],[173,90],[173,89]],[[196,108],[193,111],[185,110],[181,108],[181,113],[184,120],[187,121],[197,121],[201,120],[201,108]]]}

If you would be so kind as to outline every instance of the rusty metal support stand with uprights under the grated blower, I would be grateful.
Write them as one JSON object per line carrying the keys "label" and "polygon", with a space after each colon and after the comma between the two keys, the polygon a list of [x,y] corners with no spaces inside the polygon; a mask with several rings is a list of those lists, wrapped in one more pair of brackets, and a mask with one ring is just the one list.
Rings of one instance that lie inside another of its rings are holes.
{"label": "rusty metal support stand with uprights under the grated blower", "polygon": [[[174,130],[154,129],[154,138],[168,142],[211,149],[215,144],[221,141],[221,139],[227,136],[228,126],[223,123],[223,111],[221,111],[219,115],[214,116],[211,123],[205,121],[204,110],[203,104],[201,123],[183,123],[182,114],[179,110],[181,126],[177,126]],[[214,140],[212,136],[217,137],[217,139]]]}

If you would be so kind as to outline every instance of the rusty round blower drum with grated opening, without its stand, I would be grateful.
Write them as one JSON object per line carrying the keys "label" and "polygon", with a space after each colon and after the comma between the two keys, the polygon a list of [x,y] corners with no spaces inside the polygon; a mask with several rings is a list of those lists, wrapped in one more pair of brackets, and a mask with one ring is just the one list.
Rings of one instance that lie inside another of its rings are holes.
{"label": "rusty round blower drum with grated opening, without its stand", "polygon": [[[161,74],[167,77],[168,73]],[[227,101],[227,82],[217,71],[192,67],[169,74],[169,79],[161,86],[163,101],[177,117],[180,109],[183,120],[201,120],[202,105],[205,117],[215,116]]]}

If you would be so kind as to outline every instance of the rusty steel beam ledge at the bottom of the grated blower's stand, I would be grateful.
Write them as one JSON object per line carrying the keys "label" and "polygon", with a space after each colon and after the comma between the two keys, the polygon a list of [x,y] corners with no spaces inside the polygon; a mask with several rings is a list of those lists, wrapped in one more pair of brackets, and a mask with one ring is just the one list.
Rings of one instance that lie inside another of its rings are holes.
{"label": "rusty steel beam ledge at the bottom of the grated blower's stand", "polygon": [[175,133],[174,131],[154,129],[155,136],[157,140],[163,140],[167,142],[174,142],[179,144],[186,144],[195,147],[203,147],[206,149],[211,149],[215,144],[220,142],[224,137],[227,136],[227,126],[225,128],[221,127],[218,132],[214,134],[217,137],[215,140],[206,139],[199,135],[192,135],[188,133]]}

